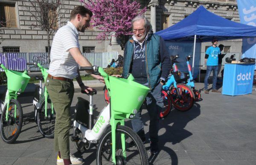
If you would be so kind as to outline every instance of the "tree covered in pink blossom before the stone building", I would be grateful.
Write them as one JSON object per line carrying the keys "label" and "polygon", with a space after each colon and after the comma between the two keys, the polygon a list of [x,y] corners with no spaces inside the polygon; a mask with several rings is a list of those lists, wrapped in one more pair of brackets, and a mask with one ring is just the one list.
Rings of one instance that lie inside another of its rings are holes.
{"label": "tree covered in pink blossom before the stone building", "polygon": [[[102,30],[96,39],[105,40],[131,35],[131,20],[146,12],[146,7],[140,9],[136,0],[80,0],[87,9],[93,12],[91,26]],[[95,2],[94,2],[95,1]],[[124,43],[121,40],[121,46]]]}

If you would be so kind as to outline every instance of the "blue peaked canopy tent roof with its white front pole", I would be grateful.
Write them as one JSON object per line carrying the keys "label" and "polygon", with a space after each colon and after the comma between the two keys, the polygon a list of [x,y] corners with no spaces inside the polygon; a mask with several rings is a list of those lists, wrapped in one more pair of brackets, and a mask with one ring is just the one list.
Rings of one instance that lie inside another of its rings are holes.
{"label": "blue peaked canopy tent roof with its white front pole", "polygon": [[219,41],[252,38],[256,37],[256,27],[227,20],[209,12],[204,6],[199,6],[195,12],[179,23],[156,32],[156,34],[160,35],[165,41],[194,41],[192,64],[192,72],[194,72],[196,42],[212,41],[213,37],[217,38]]}

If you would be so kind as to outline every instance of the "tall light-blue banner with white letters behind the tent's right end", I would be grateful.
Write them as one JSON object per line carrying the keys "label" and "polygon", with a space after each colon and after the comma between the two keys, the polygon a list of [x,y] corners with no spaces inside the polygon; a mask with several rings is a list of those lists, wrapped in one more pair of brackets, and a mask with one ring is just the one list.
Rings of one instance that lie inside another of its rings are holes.
{"label": "tall light-blue banner with white letters behind the tent's right end", "polygon": [[[256,26],[256,1],[237,0],[240,22],[243,24]],[[256,58],[256,38],[243,39],[242,57]]]}

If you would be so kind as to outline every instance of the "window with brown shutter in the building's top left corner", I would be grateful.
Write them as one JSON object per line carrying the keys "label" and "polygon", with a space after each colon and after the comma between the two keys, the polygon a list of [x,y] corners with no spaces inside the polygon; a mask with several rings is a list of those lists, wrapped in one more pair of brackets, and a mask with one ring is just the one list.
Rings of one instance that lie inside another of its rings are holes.
{"label": "window with brown shutter in the building's top left corner", "polygon": [[0,3],[0,27],[17,27],[15,4]]}

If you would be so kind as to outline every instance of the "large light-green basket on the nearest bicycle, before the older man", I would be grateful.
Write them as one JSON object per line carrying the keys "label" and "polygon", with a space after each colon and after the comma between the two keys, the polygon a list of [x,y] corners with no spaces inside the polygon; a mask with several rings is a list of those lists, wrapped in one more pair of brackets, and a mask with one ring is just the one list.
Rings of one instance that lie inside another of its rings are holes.
{"label": "large light-green basket on the nearest bicycle, before the older man", "polygon": [[136,113],[140,110],[149,88],[137,82],[109,76],[111,109],[120,113]]}

